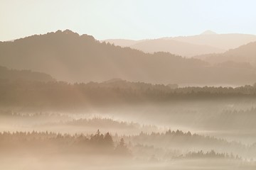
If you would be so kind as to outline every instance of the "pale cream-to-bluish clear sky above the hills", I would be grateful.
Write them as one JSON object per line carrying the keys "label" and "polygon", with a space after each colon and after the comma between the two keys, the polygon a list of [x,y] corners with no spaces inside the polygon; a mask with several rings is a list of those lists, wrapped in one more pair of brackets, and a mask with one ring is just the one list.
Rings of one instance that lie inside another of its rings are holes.
{"label": "pale cream-to-bluish clear sky above the hills", "polygon": [[0,0],[0,41],[70,29],[108,38],[256,35],[255,0]]}

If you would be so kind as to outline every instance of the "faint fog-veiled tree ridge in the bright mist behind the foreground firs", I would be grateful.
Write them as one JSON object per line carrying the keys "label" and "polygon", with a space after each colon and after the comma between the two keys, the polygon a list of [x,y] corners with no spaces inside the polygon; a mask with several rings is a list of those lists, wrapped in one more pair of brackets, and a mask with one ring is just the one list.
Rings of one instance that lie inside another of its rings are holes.
{"label": "faint fog-veiled tree ridge in the bright mist behind the foreground firs", "polygon": [[137,130],[151,130],[156,131],[159,128],[156,125],[141,125],[139,123],[124,121],[124,120],[114,120],[112,118],[103,118],[100,116],[95,116],[93,118],[78,118],[74,119],[71,115],[63,113],[18,113],[11,110],[1,111],[2,116],[11,118],[11,120],[54,120],[49,123],[42,125],[68,125],[68,126],[81,126],[81,127],[94,127],[94,128],[117,128],[117,129],[137,129]]}

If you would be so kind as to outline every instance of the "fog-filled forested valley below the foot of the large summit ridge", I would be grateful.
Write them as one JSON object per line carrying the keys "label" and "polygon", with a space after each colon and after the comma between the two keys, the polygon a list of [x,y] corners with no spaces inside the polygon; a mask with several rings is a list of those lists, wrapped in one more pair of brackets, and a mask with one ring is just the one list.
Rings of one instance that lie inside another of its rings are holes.
{"label": "fog-filled forested valley below the foot of the large summit ridge", "polygon": [[0,80],[0,169],[256,167],[255,85],[69,84],[26,74]]}

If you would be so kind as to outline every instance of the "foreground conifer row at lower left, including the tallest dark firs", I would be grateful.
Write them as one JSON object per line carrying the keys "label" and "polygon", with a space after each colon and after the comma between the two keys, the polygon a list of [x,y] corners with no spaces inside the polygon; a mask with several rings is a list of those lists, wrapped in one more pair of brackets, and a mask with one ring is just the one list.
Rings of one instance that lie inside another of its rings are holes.
{"label": "foreground conifer row at lower left, including the tallest dark firs", "polygon": [[103,135],[100,130],[92,135],[47,131],[0,132],[0,148],[2,152],[18,152],[23,149],[43,152],[44,149],[52,149],[50,152],[131,155],[123,138],[119,142],[114,142],[109,132]]}

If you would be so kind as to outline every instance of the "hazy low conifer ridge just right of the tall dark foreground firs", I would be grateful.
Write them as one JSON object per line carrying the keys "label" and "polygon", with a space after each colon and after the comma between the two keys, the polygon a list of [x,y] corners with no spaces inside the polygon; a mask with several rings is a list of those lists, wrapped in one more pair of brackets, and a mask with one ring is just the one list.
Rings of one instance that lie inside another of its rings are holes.
{"label": "hazy low conifer ridge just right of the tall dark foreground firs", "polygon": [[[206,135],[192,134],[182,130],[168,130],[166,132],[141,132],[139,135],[122,136],[124,140],[135,144],[154,145],[159,148],[180,149],[181,151],[208,150],[242,153],[248,148],[240,142],[228,142],[227,140]],[[250,152],[250,151],[248,151]]]}

